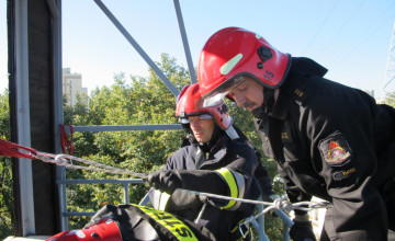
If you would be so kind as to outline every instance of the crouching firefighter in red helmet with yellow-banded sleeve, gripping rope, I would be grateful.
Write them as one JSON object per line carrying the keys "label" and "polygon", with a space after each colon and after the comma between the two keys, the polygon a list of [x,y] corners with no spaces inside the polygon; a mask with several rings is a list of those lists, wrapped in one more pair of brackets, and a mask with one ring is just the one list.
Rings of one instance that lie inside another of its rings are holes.
{"label": "crouching firefighter in red helmet with yellow-banded sleeve, gripping rope", "polygon": [[203,106],[198,83],[180,92],[176,116],[190,145],[176,151],[161,170],[148,175],[155,187],[150,191],[154,207],[193,221],[205,204],[198,225],[207,228],[217,240],[239,239],[241,233],[236,227],[252,214],[253,205],[215,198],[202,203],[200,197],[177,188],[257,199],[260,190],[253,174],[259,162],[252,148],[239,139],[223,100]]}

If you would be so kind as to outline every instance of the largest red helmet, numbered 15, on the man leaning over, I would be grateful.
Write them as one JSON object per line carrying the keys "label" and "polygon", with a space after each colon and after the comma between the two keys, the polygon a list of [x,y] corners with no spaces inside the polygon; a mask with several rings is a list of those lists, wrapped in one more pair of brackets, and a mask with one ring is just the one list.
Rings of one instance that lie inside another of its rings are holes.
{"label": "largest red helmet, numbered 15, on the man leaning over", "polygon": [[216,32],[203,47],[198,81],[204,99],[224,93],[239,76],[250,76],[264,87],[281,85],[291,55],[273,48],[263,37],[240,27]]}

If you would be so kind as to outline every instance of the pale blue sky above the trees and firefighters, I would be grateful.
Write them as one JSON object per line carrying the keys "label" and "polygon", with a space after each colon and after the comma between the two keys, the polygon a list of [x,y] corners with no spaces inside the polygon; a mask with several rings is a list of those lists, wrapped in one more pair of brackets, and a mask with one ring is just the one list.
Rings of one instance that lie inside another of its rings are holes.
{"label": "pale blue sky above the trees and firefighters", "polygon": [[[154,61],[166,53],[188,69],[173,1],[102,2]],[[384,94],[394,0],[181,0],[180,8],[195,67],[212,34],[239,26],[257,32],[281,51],[313,58],[329,70],[328,79],[374,91],[377,99]],[[0,11],[2,91],[8,85],[5,1],[0,1]],[[81,73],[88,92],[111,85],[115,73],[148,76],[148,65],[93,0],[64,0],[61,14],[63,67]],[[385,91],[394,92],[395,81]]]}

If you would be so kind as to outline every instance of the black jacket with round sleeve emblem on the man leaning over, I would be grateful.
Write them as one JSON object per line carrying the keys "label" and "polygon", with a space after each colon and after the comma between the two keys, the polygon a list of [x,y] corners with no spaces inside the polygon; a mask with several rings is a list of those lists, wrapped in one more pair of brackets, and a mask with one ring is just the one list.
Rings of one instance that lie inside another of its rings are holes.
{"label": "black jacket with round sleeve emblem on the man leaning over", "polygon": [[272,111],[253,112],[263,151],[292,203],[312,195],[332,203],[337,238],[385,240],[395,216],[394,110],[324,79],[326,71],[292,58]]}

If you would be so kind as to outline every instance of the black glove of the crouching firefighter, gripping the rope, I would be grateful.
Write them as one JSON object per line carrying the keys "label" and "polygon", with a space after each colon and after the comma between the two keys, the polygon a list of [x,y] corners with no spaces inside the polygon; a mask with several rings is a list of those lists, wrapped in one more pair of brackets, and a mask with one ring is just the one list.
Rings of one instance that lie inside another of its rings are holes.
{"label": "black glove of the crouching firefighter, gripping the rope", "polygon": [[172,194],[174,190],[182,187],[182,181],[177,171],[160,170],[147,175],[149,185],[161,192]]}

